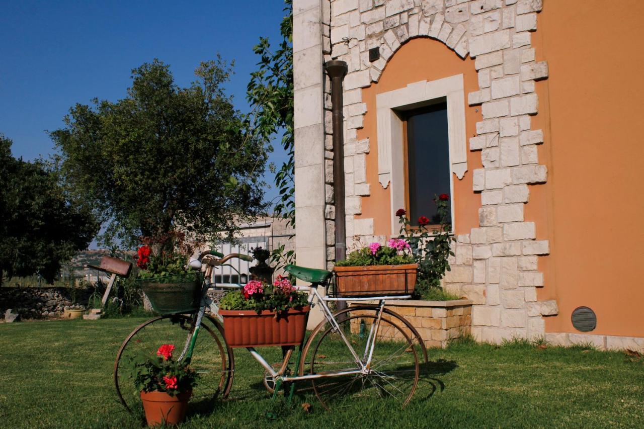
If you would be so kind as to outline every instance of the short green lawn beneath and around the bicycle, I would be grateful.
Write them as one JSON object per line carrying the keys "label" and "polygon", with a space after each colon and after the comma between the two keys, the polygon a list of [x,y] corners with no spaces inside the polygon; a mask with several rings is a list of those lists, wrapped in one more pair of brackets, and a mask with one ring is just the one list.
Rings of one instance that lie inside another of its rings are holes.
{"label": "short green lawn beneath and around the bicycle", "polygon": [[[140,427],[122,412],[111,376],[122,339],[142,320],[1,323],[2,426]],[[238,350],[229,400],[189,415],[182,427],[644,427],[644,359],[581,347],[462,343],[430,350],[430,360],[406,408],[374,401],[326,412],[304,393],[292,410],[267,421],[263,371]],[[312,405],[309,414],[303,402]]]}

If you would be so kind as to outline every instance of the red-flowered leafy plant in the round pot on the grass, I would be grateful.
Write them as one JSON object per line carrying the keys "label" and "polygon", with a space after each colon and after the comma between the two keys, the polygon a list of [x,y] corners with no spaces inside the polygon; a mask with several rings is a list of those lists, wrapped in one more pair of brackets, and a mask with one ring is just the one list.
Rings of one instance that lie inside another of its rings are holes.
{"label": "red-flowered leafy plant in the round pot on the grass", "polygon": [[124,376],[133,379],[142,392],[166,392],[170,396],[189,392],[197,383],[198,374],[185,363],[173,359],[175,345],[164,344],[156,354],[140,352],[129,356]]}

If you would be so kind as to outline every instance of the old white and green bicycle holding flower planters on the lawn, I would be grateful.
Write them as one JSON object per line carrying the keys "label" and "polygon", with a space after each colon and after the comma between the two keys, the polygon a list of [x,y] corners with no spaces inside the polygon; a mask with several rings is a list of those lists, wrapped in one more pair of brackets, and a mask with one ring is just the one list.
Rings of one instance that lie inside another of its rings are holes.
{"label": "old white and green bicycle holding flower planters on the lawn", "polygon": [[[181,349],[178,359],[187,359],[200,375],[193,397],[214,401],[218,396],[229,395],[234,377],[233,348],[225,342],[223,319],[218,315],[218,305],[208,296],[208,291],[241,287],[211,285],[210,282],[214,267],[224,266],[232,258],[252,260],[243,254],[223,256],[216,251],[200,254],[189,264],[199,270],[205,265],[198,307],[189,313],[152,318],[139,325],[122,343],[115,361],[114,381],[120,402],[128,411],[137,408],[138,390],[129,379],[120,376],[122,365],[128,360],[126,357],[138,354],[140,350],[155,350],[162,343],[182,345],[178,346]],[[263,383],[267,390],[276,396],[280,387],[289,383],[290,401],[294,382],[308,380],[327,409],[332,403],[354,394],[387,397],[406,405],[415,392],[419,378],[417,350],[420,350],[425,362],[427,351],[417,330],[403,316],[386,309],[385,305],[388,300],[403,300],[411,296],[333,297],[327,294],[332,272],[296,265],[287,265],[285,269],[296,278],[312,283],[310,286],[296,286],[295,289],[307,292],[308,303],[311,306],[320,305],[325,319],[298,346],[283,346],[283,361],[276,365],[267,363],[254,347],[247,347],[265,370]],[[318,288],[323,294],[319,293]],[[368,303],[374,300],[378,303]],[[334,301],[361,304],[333,313],[328,303]],[[199,336],[200,330],[205,330],[206,335]],[[291,375],[289,363],[296,347],[297,371]],[[307,364],[308,372],[305,371]]]}

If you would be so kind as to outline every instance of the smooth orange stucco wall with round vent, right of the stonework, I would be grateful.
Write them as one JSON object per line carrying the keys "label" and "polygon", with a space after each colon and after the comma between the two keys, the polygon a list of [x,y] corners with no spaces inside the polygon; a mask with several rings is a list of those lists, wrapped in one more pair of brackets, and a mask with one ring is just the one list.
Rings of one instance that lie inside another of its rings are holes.
{"label": "smooth orange stucco wall with round vent, right of the stonework", "polygon": [[644,336],[644,1],[618,5],[544,1],[533,35],[549,65],[533,118],[548,182],[530,187],[526,220],[551,240],[539,298],[556,299],[559,315],[547,332],[577,332],[571,312],[587,305],[591,334]]}

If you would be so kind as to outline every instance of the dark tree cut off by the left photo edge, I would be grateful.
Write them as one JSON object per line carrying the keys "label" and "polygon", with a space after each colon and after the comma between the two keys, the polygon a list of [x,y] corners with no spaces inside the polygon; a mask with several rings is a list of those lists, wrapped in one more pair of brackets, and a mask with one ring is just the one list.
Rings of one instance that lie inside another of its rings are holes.
{"label": "dark tree cut off by the left photo edge", "polygon": [[3,274],[41,274],[52,282],[61,263],[86,249],[98,231],[93,215],[63,191],[43,162],[11,154],[0,135],[0,285]]}

